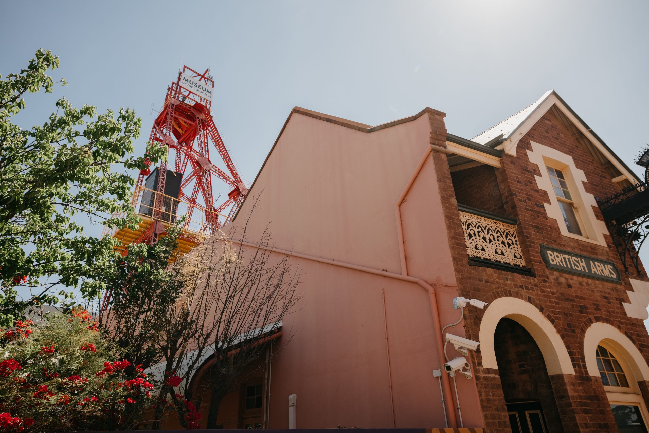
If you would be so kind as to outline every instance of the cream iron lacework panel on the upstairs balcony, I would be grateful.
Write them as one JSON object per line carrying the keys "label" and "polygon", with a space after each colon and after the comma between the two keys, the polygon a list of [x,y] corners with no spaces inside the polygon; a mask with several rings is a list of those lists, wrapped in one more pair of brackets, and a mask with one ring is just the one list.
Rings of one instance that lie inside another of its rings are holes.
{"label": "cream iron lacework panel on the upstairs balcony", "polygon": [[479,215],[459,212],[469,257],[525,266],[516,226]]}

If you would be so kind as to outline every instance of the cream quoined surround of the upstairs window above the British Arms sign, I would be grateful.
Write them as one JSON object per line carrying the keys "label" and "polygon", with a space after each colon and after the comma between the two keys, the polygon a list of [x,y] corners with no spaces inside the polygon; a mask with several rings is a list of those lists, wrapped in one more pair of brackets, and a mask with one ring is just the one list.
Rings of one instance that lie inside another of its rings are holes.
{"label": "cream quoined surround of the upstairs window above the British Arms sign", "polygon": [[[606,247],[604,234],[608,234],[608,229],[606,223],[595,216],[593,206],[597,206],[597,202],[593,194],[587,193],[583,187],[583,182],[587,182],[583,170],[575,166],[572,156],[540,143],[530,143],[532,150],[527,151],[528,158],[532,164],[539,166],[539,172],[541,173],[541,176],[535,176],[537,187],[548,194],[550,201],[550,203],[543,203],[548,218],[556,219],[561,235]],[[563,172],[568,184],[568,190],[572,195],[572,202],[582,230],[582,236],[568,231],[546,166],[557,168]]]}

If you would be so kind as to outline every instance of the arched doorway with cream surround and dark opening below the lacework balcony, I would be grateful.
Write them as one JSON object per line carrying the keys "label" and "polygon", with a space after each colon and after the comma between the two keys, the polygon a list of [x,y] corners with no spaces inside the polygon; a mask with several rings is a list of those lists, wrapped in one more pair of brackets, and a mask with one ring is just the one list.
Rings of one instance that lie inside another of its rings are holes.
{"label": "arched doorway with cream surround and dark opening below the lacework balcony", "polygon": [[501,297],[485,309],[479,340],[482,366],[500,375],[512,431],[565,431],[552,380],[554,375],[574,376],[575,371],[548,317],[522,299]]}

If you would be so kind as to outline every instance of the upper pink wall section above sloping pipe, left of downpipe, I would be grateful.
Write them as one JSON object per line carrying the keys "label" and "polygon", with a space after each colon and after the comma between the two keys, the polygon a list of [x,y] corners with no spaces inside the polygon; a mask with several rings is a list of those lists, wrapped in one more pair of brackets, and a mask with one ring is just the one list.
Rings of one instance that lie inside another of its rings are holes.
{"label": "upper pink wall section above sloping pipe, left of downpipe", "polygon": [[366,133],[293,114],[234,225],[275,246],[400,273],[394,204],[429,143],[427,116]]}

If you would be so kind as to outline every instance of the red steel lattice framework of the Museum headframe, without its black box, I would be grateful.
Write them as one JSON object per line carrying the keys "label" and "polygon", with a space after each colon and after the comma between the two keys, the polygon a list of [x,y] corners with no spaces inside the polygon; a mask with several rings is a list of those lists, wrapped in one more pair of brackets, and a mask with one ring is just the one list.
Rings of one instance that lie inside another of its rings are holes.
{"label": "red steel lattice framework of the Museum headframe, without its black box", "polygon": [[[173,171],[183,175],[178,198],[204,208],[206,225],[202,230],[212,231],[219,229],[223,224],[219,221],[218,214],[231,206],[229,215],[230,217],[234,216],[248,190],[239,177],[234,162],[232,162],[221,134],[214,123],[210,113],[212,101],[201,95],[200,90],[197,90],[202,87],[204,94],[212,93],[214,95],[214,80],[208,72],[209,69],[206,69],[203,73],[199,73],[187,66],[184,66],[182,71],[178,71],[178,79],[167,88],[164,106],[153,122],[149,143],[153,146],[167,145],[169,149],[175,150]],[[183,76],[190,77],[191,80],[182,82]],[[210,161],[210,142],[219,153],[229,173]],[[149,149],[147,149],[148,152]],[[167,165],[168,162],[160,164],[157,186],[157,191],[160,194],[156,194],[153,206],[153,223],[136,242],[155,243],[158,236],[164,232],[164,227],[159,220]],[[140,171],[138,186],[143,184],[145,177],[150,173],[151,169]],[[212,177],[225,182],[232,188],[227,199],[222,203],[215,203]],[[204,204],[198,203],[199,194]],[[189,223],[193,210],[193,206],[188,209],[186,224]]]}

